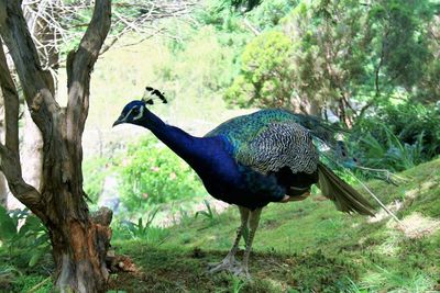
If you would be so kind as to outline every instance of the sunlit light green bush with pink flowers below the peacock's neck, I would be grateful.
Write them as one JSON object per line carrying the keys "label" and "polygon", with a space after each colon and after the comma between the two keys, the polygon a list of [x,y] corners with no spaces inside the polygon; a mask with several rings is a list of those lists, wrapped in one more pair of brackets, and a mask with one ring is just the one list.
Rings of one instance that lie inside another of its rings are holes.
{"label": "sunlit light green bush with pink flowers below the peacock's neck", "polygon": [[118,170],[121,200],[131,212],[205,194],[193,169],[151,136],[128,147]]}

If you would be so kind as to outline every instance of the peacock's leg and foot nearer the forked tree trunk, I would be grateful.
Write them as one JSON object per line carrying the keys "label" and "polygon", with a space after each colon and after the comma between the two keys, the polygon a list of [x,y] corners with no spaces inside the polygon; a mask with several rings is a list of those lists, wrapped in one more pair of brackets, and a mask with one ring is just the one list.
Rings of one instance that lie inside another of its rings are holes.
{"label": "peacock's leg and foot nearer the forked tree trunk", "polygon": [[241,225],[237,229],[237,237],[235,241],[232,246],[231,251],[229,251],[228,256],[220,262],[220,263],[212,263],[209,264],[209,267],[212,267],[212,269],[209,270],[210,273],[228,270],[228,271],[234,271],[234,268],[239,266],[239,262],[235,260],[235,253],[237,250],[239,249],[239,244],[241,236],[243,235],[243,230],[245,226],[248,225],[248,219],[249,219],[249,214],[250,210],[246,207],[239,206],[240,210],[240,218],[241,218]]}

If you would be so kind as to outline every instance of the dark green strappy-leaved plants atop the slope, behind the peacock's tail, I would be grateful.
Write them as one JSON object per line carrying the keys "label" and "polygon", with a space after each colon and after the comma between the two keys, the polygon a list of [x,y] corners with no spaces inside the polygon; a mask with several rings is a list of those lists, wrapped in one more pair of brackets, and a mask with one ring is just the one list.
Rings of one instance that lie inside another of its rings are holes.
{"label": "dark green strappy-leaved plants atop the slope, behind the peacock's tail", "polygon": [[440,112],[421,104],[387,104],[356,121],[351,149],[361,164],[402,171],[440,154]]}

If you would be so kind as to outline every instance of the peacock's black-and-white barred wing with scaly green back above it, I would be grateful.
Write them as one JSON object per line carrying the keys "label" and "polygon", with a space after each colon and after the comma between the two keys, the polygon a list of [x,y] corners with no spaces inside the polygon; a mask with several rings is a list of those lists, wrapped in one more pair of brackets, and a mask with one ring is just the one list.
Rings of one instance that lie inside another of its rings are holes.
{"label": "peacock's black-and-white barred wing with scaly green back above it", "polygon": [[264,110],[230,120],[207,136],[223,135],[232,154],[243,166],[261,173],[284,167],[293,173],[312,173],[319,156],[310,131],[297,123],[297,116],[283,110]]}

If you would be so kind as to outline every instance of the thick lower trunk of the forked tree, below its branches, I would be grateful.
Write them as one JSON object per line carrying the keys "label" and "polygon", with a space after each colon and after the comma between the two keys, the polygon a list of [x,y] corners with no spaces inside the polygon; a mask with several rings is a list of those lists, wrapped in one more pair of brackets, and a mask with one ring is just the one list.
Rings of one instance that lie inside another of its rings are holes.
{"label": "thick lower trunk of the forked tree, below its branches", "polygon": [[95,223],[90,217],[84,201],[80,144],[65,139],[67,123],[57,126],[54,134],[59,136],[54,135],[44,151],[42,189],[56,263],[55,285],[62,292],[103,292],[110,222]]}

